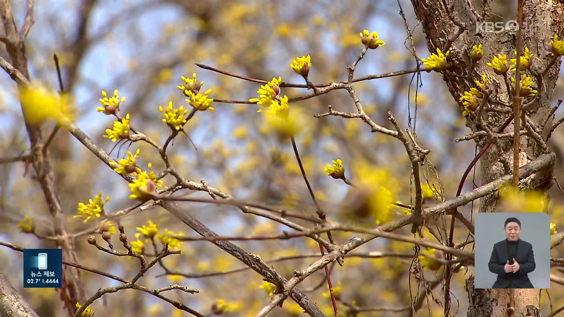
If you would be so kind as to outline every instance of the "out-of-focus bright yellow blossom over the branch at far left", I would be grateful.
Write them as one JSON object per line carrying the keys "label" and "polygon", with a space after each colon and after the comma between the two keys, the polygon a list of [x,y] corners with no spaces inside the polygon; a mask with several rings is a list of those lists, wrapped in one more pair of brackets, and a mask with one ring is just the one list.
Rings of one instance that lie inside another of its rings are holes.
{"label": "out-of-focus bright yellow blossom over the branch at far left", "polygon": [[52,120],[58,125],[68,126],[74,119],[74,104],[69,94],[59,95],[33,83],[32,86],[21,87],[19,98],[24,118],[29,124]]}

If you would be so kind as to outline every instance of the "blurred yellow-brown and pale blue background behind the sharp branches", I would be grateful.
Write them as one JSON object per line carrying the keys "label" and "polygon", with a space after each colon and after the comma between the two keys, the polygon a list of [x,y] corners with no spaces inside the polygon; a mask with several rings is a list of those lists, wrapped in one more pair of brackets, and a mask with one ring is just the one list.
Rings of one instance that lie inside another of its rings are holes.
{"label": "blurred yellow-brown and pale blue background behind the sharp branches", "polygon": [[[11,1],[16,24],[21,25],[25,15],[25,1]],[[32,81],[39,81],[58,90],[53,54],[58,55],[63,73],[65,90],[72,91],[77,102],[76,124],[98,146],[110,151],[114,143],[103,138],[105,129],[113,125],[113,117],[96,112],[100,105],[101,91],[111,94],[119,90],[126,101],[120,113],[131,116],[131,125],[164,143],[170,129],[162,122],[158,106],[183,104],[184,96],[177,89],[183,82],[180,76],[204,80],[202,91],[211,89],[210,98],[248,100],[257,96],[259,84],[224,76],[201,69],[195,63],[210,65],[223,71],[243,76],[271,80],[282,77],[283,81],[303,83],[289,67],[296,56],[311,56],[309,78],[314,83],[346,80],[346,65],[351,64],[362,51],[359,32],[376,30],[386,45],[369,50],[356,67],[355,77],[380,74],[417,66],[417,58],[430,55],[421,25],[417,23],[409,1],[399,1],[410,30],[413,30],[415,51],[395,1],[230,1],[230,0],[169,0],[169,1],[64,1],[42,0],[36,2],[35,19],[28,39],[27,52]],[[479,7],[481,3],[477,3]],[[514,19],[514,7],[501,1],[492,4],[490,20]],[[1,28],[1,27],[0,27]],[[3,33],[2,33],[3,34]],[[5,47],[0,54],[7,59]],[[554,90],[553,100],[564,98],[561,77]],[[0,75],[0,151],[1,156],[18,156],[29,152],[29,140],[23,125],[23,115],[15,100],[16,85],[7,74]],[[455,143],[470,130],[465,127],[460,106],[443,85],[440,74],[422,72],[387,77],[355,84],[365,112],[374,122],[393,129],[387,120],[387,112],[393,113],[402,129],[411,125],[418,140],[430,148],[430,162],[422,168],[423,182],[442,189],[444,199],[455,196],[460,177],[472,160],[476,148],[473,141]],[[281,95],[290,98],[311,94],[306,89],[282,89]],[[329,219],[343,223],[375,226],[373,221],[357,219],[347,209],[345,197],[350,187],[341,180],[332,179],[324,172],[327,164],[341,158],[346,176],[353,183],[361,175],[355,175],[355,165],[364,163],[387,169],[398,184],[398,201],[411,204],[413,188],[410,186],[411,165],[403,144],[385,135],[371,133],[370,127],[360,119],[342,117],[314,118],[317,113],[334,110],[355,112],[355,106],[345,90],[334,90],[316,98],[292,103],[290,107],[302,112],[303,131],[296,138],[305,171],[317,199]],[[186,135],[180,134],[169,147],[171,164],[184,178],[205,182],[214,188],[230,193],[239,200],[291,208],[305,215],[314,214],[314,205],[307,193],[296,158],[289,142],[279,142],[264,128],[261,108],[255,104],[213,103],[215,111],[200,111],[187,124]],[[564,107],[556,117],[564,116]],[[49,135],[52,124],[44,125]],[[549,142],[557,153],[555,177],[564,179],[564,127],[559,127]],[[161,171],[164,164],[155,148],[136,142],[130,151],[140,149],[139,162],[144,168],[150,161],[153,170]],[[120,157],[123,156],[121,150]],[[59,131],[50,146],[52,165],[56,171],[57,187],[61,203],[68,216],[72,232],[81,232],[96,226],[95,222],[83,224],[73,219],[78,202],[87,202],[98,194],[110,196],[105,212],[110,213],[132,206],[127,183],[101,163],[78,140],[66,131]],[[112,152],[117,158],[117,151]],[[431,164],[432,163],[432,164]],[[51,217],[46,208],[41,187],[32,179],[33,169],[24,177],[25,164],[16,162],[0,165],[0,241],[14,243],[23,248],[53,248],[52,241],[24,234],[17,228],[25,215],[34,217],[36,231],[52,235]],[[174,178],[164,178],[165,184],[173,184]],[[477,173],[471,173],[465,183],[465,191],[472,190],[473,182],[479,186]],[[561,181],[562,182],[562,181]],[[205,192],[180,193],[190,197],[209,198]],[[552,201],[549,210],[551,221],[559,231],[564,226],[558,206],[564,204],[562,192],[554,186],[550,191]],[[440,197],[437,197],[440,199]],[[436,200],[429,199],[426,205]],[[344,202],[343,202],[344,201]],[[478,201],[459,211],[466,218],[478,212]],[[288,230],[278,223],[243,214],[235,207],[180,202],[193,216],[219,235],[270,235]],[[472,209],[473,208],[473,209]],[[393,210],[394,217],[405,215],[403,210]],[[159,230],[168,228],[184,235],[195,236],[190,228],[160,207],[140,211],[136,209],[121,219],[126,234],[133,239],[136,227],[148,220],[158,223]],[[311,223],[296,220],[305,226]],[[442,234],[450,217],[432,224],[436,233]],[[428,231],[425,231],[429,234]],[[411,235],[409,228],[398,233]],[[425,235],[425,233],[424,233]],[[468,230],[457,223],[455,242],[463,241]],[[100,235],[96,235],[99,241]],[[340,243],[354,234],[335,232]],[[429,239],[434,239],[428,235]],[[112,237],[119,244],[117,236]],[[307,238],[268,241],[235,241],[241,248],[258,254],[265,261],[277,257],[318,254],[319,246]],[[99,270],[130,278],[138,270],[138,263],[125,257],[114,257],[99,252],[87,244],[86,235],[77,237],[76,245],[80,263]],[[119,247],[117,247],[120,249]],[[242,263],[206,241],[184,243],[182,254],[170,256],[165,264],[186,274],[207,274],[244,267]],[[152,248],[147,245],[149,253]],[[394,251],[413,253],[413,245],[382,238],[374,239],[355,252]],[[472,244],[466,246],[472,250]],[[553,250],[562,254],[563,247]],[[560,257],[560,256],[557,256]],[[54,289],[23,289],[21,281],[22,254],[0,248],[0,267],[10,281],[40,316],[64,315],[63,304]],[[288,259],[272,262],[281,274],[290,277],[294,270],[303,269],[315,258]],[[411,258],[363,258],[347,257],[344,266],[332,267],[333,284],[341,283],[340,311],[344,303],[354,302],[361,307],[405,307],[423,289],[423,284],[413,278],[421,276]],[[237,306],[227,315],[254,316],[266,305],[270,296],[262,285],[262,277],[251,270],[219,274],[215,276],[182,278],[159,276],[161,267],[153,267],[140,283],[148,288],[160,288],[169,284],[183,284],[200,290],[187,294],[174,290],[167,295],[187,306],[209,314],[214,301],[222,298]],[[453,276],[452,314],[466,314],[468,298],[464,290],[465,279],[473,273],[473,267]],[[424,271],[426,280],[434,280],[439,271]],[[101,287],[117,285],[116,281],[90,272],[82,272],[87,297]],[[327,315],[333,314],[331,300],[323,296],[327,292],[323,270],[316,272],[299,288],[318,303]],[[317,287],[321,285],[320,287]],[[552,292],[561,292],[564,286],[552,284]],[[420,316],[442,315],[444,298],[441,287],[429,292]],[[543,314],[550,311],[547,293],[541,294]],[[552,297],[554,306],[562,306],[564,298]],[[91,305],[96,315],[104,316],[188,316],[166,302],[136,290],[123,290],[105,295]],[[284,307],[276,307],[273,316],[298,316],[301,309],[291,300]],[[359,316],[406,315],[409,311],[367,311]]]}

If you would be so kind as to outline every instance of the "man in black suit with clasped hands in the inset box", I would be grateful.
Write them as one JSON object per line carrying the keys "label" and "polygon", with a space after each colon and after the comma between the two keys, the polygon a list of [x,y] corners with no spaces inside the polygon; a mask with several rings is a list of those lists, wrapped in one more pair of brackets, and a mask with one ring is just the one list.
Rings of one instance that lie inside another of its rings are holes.
{"label": "man in black suit with clasped hands in the inset box", "polygon": [[519,239],[521,222],[515,217],[507,218],[504,232],[507,239],[493,245],[490,257],[490,272],[497,274],[492,288],[535,288],[528,273],[535,270],[532,245]]}

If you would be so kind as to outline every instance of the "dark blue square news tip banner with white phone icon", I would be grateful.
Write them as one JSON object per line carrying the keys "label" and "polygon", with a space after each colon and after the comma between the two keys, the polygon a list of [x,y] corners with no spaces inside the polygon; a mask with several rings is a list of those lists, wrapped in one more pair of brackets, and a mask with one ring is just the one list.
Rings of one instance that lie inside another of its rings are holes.
{"label": "dark blue square news tip banner with white phone icon", "polygon": [[63,250],[24,249],[24,288],[60,288],[62,283]]}

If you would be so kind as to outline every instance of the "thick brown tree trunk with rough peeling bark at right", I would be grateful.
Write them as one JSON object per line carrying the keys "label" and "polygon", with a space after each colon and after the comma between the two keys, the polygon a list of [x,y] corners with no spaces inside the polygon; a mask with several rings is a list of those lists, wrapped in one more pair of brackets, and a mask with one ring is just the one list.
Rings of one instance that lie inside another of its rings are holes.
{"label": "thick brown tree trunk with rough peeling bark at right", "polygon": [[[444,7],[445,3],[448,7]],[[504,29],[502,32],[498,33],[484,32],[483,28],[478,27],[484,21],[484,18],[472,6],[470,0],[412,0],[412,4],[415,8],[417,19],[422,23],[423,30],[426,34],[427,45],[431,52],[436,52],[437,47],[443,49],[449,39],[452,40],[456,37],[457,32],[460,30],[460,27],[457,25],[465,26],[465,32],[460,34],[450,46],[450,56],[449,59],[447,59],[450,63],[450,67],[448,67],[450,73],[443,73],[443,80],[446,82],[453,98],[458,102],[460,96],[464,94],[464,91],[469,91],[470,87],[475,87],[476,85],[473,81],[469,81],[460,76],[453,76],[452,73],[470,76],[473,79],[479,79],[482,74],[486,74],[489,81],[493,81],[493,85],[490,85],[494,88],[492,90],[494,91],[491,95],[492,98],[512,104],[512,99],[508,96],[503,76],[493,73],[493,69],[488,67],[486,62],[491,61],[493,56],[497,54],[507,54],[508,61],[515,57],[516,30]],[[513,16],[516,16],[516,14]],[[531,75],[532,78],[534,78],[536,90],[539,91],[540,98],[532,105],[528,116],[530,116],[531,121],[539,127],[541,130],[540,135],[544,140],[548,137],[549,131],[547,127],[550,127],[550,122],[552,122],[549,120],[548,124],[544,124],[550,110],[550,101],[558,78],[558,69],[561,60],[558,59],[549,69],[543,78],[543,82],[539,80],[540,77],[534,74],[540,74],[547,68],[547,65],[552,59],[552,54],[550,53],[550,38],[553,37],[554,34],[558,34],[559,36],[564,35],[562,33],[563,27],[564,2],[548,0],[525,1],[525,5],[523,6],[523,28],[521,32],[521,55],[523,51],[525,51],[525,47],[528,47],[532,54],[535,55],[535,58],[534,61],[532,61],[530,71],[522,71],[521,73]],[[473,45],[479,44],[482,44],[484,56],[482,60],[478,61],[478,63],[473,66],[468,52]],[[511,74],[513,73],[508,72],[508,76],[511,76]],[[461,106],[460,112],[462,112]],[[482,120],[484,124],[495,133],[509,116],[513,115],[487,112],[483,113]],[[480,130],[471,120],[467,121],[466,126],[472,129],[472,131]],[[524,127],[523,123],[521,126]],[[513,124],[510,124],[502,133],[512,131]],[[476,140],[479,147],[484,146],[488,141],[487,138]],[[513,161],[512,144],[512,140],[501,140],[502,148],[500,149],[493,143],[481,157],[482,184],[486,184],[491,182],[491,180],[512,173],[512,171],[508,169],[508,166],[504,168],[504,165],[501,163],[503,158],[505,158],[506,162]],[[534,139],[525,136],[521,137],[519,153],[520,166],[534,160],[541,153],[542,150]],[[502,157],[501,160],[500,157]],[[521,188],[535,188],[542,191],[548,190],[552,182],[552,169],[553,166],[551,166],[548,171],[543,173],[539,172],[521,180],[519,186]],[[481,199],[479,212],[496,212],[498,205],[499,199],[497,193],[493,193]],[[469,297],[468,316],[490,317],[508,315],[508,290],[474,289],[473,276],[470,276],[466,281],[466,289],[468,290]],[[540,316],[539,290],[515,290],[514,298],[515,316]]]}

